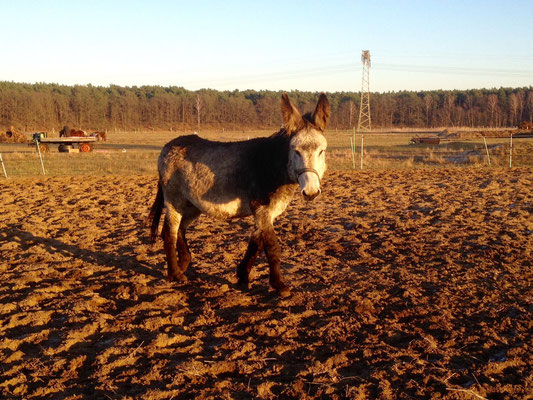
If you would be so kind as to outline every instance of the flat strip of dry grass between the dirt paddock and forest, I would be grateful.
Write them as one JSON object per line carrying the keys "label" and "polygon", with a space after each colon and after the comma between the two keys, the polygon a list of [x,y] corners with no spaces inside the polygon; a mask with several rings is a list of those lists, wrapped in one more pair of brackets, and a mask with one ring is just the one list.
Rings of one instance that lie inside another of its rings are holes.
{"label": "flat strip of dry grass between the dirt paddock and forest", "polygon": [[[106,143],[97,143],[92,153],[59,153],[52,147],[43,153],[47,175],[131,175],[156,174],[161,147],[172,138],[192,132],[120,132],[110,133]],[[272,131],[204,131],[200,136],[230,141],[269,136]],[[330,170],[353,168],[350,137],[347,131],[327,131]],[[403,169],[450,165],[487,165],[483,139],[457,139],[439,145],[409,144],[412,133],[377,133],[364,136],[364,169]],[[492,166],[509,165],[509,140],[488,138]],[[361,164],[361,135],[356,136],[355,166]],[[515,139],[513,166],[533,166],[533,139]],[[35,149],[24,144],[0,143],[10,177],[42,175]],[[0,179],[3,172],[0,170]]]}

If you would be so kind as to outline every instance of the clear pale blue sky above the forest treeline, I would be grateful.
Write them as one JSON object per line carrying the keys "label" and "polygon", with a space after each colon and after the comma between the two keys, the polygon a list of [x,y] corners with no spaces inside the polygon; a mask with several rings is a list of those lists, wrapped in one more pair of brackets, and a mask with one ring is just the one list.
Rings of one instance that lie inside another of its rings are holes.
{"label": "clear pale blue sky above the forest treeline", "polygon": [[0,80],[372,91],[533,85],[532,0],[0,0]]}

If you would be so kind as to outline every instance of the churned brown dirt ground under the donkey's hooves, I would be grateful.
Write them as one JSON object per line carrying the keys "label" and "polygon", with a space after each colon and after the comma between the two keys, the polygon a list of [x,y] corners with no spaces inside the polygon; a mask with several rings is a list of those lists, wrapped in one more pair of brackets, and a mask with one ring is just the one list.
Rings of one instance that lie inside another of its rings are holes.
{"label": "churned brown dirt ground under the donkey's hooves", "polygon": [[[189,283],[145,218],[154,176],[0,181],[11,399],[533,398],[533,169],[331,172],[278,220],[283,276],[201,217]],[[2,397],[2,396],[0,396]]]}

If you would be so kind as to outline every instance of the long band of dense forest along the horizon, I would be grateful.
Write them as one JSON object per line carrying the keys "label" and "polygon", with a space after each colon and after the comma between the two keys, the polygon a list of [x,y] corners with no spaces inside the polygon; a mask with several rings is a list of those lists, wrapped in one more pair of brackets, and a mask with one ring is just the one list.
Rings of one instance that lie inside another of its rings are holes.
{"label": "long band of dense forest along the horizon", "polygon": [[[170,86],[0,82],[0,127],[79,129],[269,129],[281,124],[282,92]],[[317,92],[291,91],[311,111]],[[330,129],[357,126],[360,93],[327,93]],[[533,86],[371,93],[372,128],[513,127],[533,120]]]}

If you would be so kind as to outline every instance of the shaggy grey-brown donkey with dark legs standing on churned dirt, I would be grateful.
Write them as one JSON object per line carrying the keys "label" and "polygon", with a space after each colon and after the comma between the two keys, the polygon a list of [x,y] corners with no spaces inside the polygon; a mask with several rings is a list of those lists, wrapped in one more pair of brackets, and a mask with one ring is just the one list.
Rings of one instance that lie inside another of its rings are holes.
{"label": "shaggy grey-brown donkey with dark legs standing on churned dirt", "polygon": [[274,220],[291,201],[296,187],[307,201],[321,192],[326,170],[324,130],[330,115],[325,94],[303,117],[287,94],[281,96],[284,127],[270,137],[214,142],[197,135],[178,137],[159,155],[157,195],[150,211],[151,242],[157,238],[163,208],[162,238],[170,281],[187,281],[191,261],[187,227],[200,214],[219,218],[254,216],[255,230],[237,266],[239,286],[247,288],[252,265],[262,249],[270,285],[282,297],[290,288],[281,279],[281,248]]}

